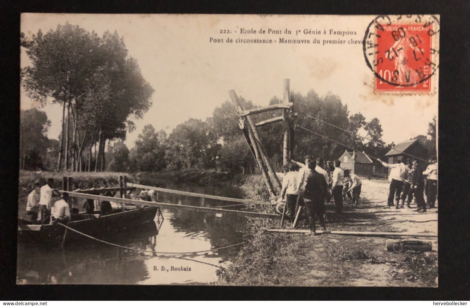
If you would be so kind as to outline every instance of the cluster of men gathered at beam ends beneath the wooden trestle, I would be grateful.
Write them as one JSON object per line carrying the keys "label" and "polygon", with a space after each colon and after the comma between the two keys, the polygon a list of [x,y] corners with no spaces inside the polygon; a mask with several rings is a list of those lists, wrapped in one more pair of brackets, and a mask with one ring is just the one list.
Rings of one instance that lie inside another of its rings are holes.
{"label": "cluster of men gathered at beam ends beneath the wooden trestle", "polygon": [[[340,167],[341,161],[328,161],[324,165],[321,157],[316,160],[312,156],[305,156],[305,164],[291,161],[284,168],[285,176],[282,179],[282,201],[287,208],[287,218],[294,223],[296,206],[305,207],[306,223],[313,234],[316,234],[315,217],[318,217],[320,226],[325,227],[325,202],[331,198],[335,200],[336,213],[343,212],[343,198],[348,195],[354,205],[359,203],[361,191],[360,178],[348,169]],[[352,195],[351,195],[352,194]]]}

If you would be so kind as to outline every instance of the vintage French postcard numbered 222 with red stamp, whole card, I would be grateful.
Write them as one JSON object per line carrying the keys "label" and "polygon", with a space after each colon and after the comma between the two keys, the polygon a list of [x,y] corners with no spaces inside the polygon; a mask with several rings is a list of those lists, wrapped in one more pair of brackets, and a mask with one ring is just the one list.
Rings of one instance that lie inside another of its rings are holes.
{"label": "vintage French postcard numbered 222 with red stamp, whole card", "polygon": [[16,283],[437,287],[439,26],[22,14]]}

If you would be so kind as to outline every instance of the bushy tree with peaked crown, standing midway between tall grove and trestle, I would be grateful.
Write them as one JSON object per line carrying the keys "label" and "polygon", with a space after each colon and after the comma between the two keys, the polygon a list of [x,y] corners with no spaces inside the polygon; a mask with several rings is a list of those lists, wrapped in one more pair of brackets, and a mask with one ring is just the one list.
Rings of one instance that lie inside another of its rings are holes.
{"label": "bushy tree with peaked crown, standing midway between tall grove and trestle", "polygon": [[165,151],[160,147],[158,136],[151,124],[144,126],[130,159],[133,167],[139,171],[158,171],[166,167]]}

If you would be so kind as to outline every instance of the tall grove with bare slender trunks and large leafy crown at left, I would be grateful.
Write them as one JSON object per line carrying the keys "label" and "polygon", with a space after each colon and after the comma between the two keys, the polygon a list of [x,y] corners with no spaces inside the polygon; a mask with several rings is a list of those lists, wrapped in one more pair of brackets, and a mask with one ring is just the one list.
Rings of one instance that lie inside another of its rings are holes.
{"label": "tall grove with bare slender trunks and large leafy crown at left", "polygon": [[[39,31],[21,45],[32,61],[22,70],[28,95],[41,102],[63,105],[63,127],[58,168],[103,170],[107,140],[125,139],[135,127],[129,118],[141,118],[151,106],[153,89],[128,55],[117,32],[99,37],[69,23],[43,34]],[[85,150],[85,147],[88,150]],[[88,162],[82,165],[83,153]]]}

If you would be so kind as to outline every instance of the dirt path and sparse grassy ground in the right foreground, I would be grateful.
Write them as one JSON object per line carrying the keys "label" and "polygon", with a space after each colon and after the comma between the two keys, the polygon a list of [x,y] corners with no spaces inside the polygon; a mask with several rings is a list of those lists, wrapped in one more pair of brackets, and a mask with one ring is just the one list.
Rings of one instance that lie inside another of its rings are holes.
{"label": "dirt path and sparse grassy ground in the right foreground", "polygon": [[[412,209],[384,209],[388,184],[363,180],[361,202],[354,208],[346,201],[344,214],[334,217],[327,206],[327,229],[397,231],[437,234],[437,209],[415,213]],[[295,280],[279,279],[280,285],[300,286],[437,286],[437,238],[432,252],[401,254],[388,252],[383,237],[298,235],[302,257]]]}

